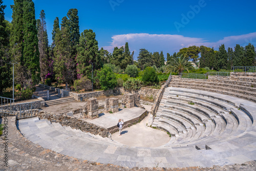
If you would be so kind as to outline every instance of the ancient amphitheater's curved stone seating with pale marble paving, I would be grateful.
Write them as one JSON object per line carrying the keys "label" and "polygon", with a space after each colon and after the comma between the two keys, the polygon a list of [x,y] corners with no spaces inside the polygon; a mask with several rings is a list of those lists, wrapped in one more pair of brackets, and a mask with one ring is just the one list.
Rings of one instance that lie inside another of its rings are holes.
{"label": "ancient amphitheater's curved stone seating with pale marble paving", "polygon": [[37,117],[19,120],[18,129],[54,153],[129,168],[212,167],[256,160],[255,75],[209,80],[173,76],[161,90],[152,127],[171,138],[159,147],[128,146]]}

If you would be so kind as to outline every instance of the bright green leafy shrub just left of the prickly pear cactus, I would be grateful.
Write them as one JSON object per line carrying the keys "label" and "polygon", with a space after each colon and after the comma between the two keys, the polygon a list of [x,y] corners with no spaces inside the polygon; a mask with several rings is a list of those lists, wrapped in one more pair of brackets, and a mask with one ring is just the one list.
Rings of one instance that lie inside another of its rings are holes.
{"label": "bright green leafy shrub just left of the prickly pear cactus", "polygon": [[116,75],[113,73],[110,67],[104,66],[101,68],[101,71],[97,73],[97,77],[99,79],[101,89],[109,90],[116,87]]}

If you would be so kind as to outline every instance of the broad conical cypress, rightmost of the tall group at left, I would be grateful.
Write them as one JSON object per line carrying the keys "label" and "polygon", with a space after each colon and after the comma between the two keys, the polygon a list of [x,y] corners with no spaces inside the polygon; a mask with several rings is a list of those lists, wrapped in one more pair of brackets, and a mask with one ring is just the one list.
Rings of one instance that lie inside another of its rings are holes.
{"label": "broad conical cypress, rightmost of the tall group at left", "polygon": [[77,46],[77,77],[88,76],[91,78],[92,64],[93,70],[100,69],[102,61],[98,53],[98,41],[95,39],[96,34],[93,30],[84,30],[79,38],[79,46]]}

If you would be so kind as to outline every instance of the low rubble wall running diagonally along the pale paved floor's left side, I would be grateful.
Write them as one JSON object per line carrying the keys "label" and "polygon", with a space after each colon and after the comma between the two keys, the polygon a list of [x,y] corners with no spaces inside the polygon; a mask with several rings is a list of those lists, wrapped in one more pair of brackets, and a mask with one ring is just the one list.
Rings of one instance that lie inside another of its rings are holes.
{"label": "low rubble wall running diagonally along the pale paved floor's left side", "polygon": [[[30,114],[27,115],[29,116]],[[97,126],[93,123],[77,119],[75,117],[58,115],[45,111],[35,113],[34,116],[37,116],[39,119],[47,119],[51,122],[58,122],[62,126],[70,126],[72,129],[81,130],[82,132],[89,132],[94,135],[100,135],[101,137],[108,137],[109,135],[109,131],[107,129],[104,129],[103,127]]]}

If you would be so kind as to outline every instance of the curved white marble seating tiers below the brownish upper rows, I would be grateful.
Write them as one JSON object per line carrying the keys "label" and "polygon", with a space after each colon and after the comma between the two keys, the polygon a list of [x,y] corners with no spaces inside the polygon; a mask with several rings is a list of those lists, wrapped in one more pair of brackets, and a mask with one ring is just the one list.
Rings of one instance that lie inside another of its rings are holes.
{"label": "curved white marble seating tiers below the brownish upper rows", "polygon": [[256,103],[241,104],[239,98],[202,91],[200,86],[200,90],[185,89],[188,86],[177,82],[170,82],[169,86],[152,124],[171,135],[164,146],[196,145],[203,149],[254,129]]}

